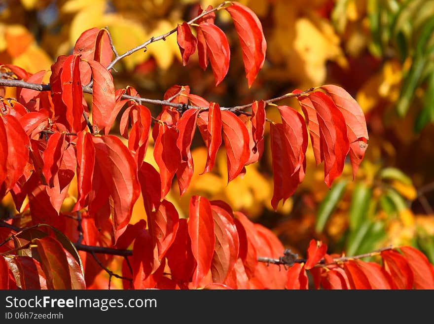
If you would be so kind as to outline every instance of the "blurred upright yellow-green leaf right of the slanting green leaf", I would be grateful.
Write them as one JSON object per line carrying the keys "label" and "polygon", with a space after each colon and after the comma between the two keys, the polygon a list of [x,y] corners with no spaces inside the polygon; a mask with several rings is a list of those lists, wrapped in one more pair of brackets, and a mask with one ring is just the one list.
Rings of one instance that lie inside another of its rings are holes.
{"label": "blurred upright yellow-green leaf right of the slanting green leaf", "polygon": [[360,182],[356,184],[350,206],[350,229],[355,230],[362,223],[369,210],[372,189]]}

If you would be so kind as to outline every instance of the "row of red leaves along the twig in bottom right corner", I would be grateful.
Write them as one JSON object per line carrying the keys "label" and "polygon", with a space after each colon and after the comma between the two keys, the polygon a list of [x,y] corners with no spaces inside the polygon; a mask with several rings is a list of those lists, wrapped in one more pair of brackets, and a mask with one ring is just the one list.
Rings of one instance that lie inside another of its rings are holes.
{"label": "row of red leaves along the twig in bottom right corner", "polygon": [[376,253],[382,265],[329,255],[326,250],[324,244],[312,240],[306,263],[294,263],[289,268],[285,288],[308,289],[306,271],[311,273],[317,289],[434,288],[434,266],[415,248],[404,246]]}

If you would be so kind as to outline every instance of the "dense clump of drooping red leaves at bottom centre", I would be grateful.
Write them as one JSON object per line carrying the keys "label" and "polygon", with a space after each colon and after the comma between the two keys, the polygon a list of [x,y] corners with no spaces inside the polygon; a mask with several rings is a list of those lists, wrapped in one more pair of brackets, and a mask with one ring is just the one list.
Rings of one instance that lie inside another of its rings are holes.
{"label": "dense clump of drooping red leaves at bottom centre", "polygon": [[[279,257],[282,243],[270,230],[233,212],[222,201],[193,196],[188,219],[180,219],[175,207],[163,200],[149,214],[147,229],[144,220],[128,225],[118,245],[133,241],[131,267],[136,289],[285,286],[284,271],[257,261],[263,255]],[[126,264],[122,272],[124,277],[131,276]],[[127,281],[124,288],[130,288]]]}

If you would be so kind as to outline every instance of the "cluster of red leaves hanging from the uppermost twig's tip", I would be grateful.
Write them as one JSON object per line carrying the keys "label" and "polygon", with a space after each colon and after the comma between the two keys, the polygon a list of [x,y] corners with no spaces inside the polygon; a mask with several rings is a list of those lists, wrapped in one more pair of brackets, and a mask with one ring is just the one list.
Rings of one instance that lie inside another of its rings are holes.
{"label": "cluster of red leaves hanging from the uppermost twig's tip", "polygon": [[[212,8],[212,6],[209,6],[206,11]],[[240,40],[244,69],[250,87],[265,61],[267,43],[262,31],[262,25],[256,14],[239,2],[230,2],[225,9],[234,22]],[[206,11],[199,8],[198,14],[200,15]],[[215,19],[216,14],[214,12],[198,19],[194,27],[196,36],[193,35],[187,23],[178,25],[177,39],[183,65],[187,64],[190,56],[197,48],[199,66],[206,70],[208,62],[211,63],[217,85],[228,72],[230,47],[224,32],[214,24]]]}

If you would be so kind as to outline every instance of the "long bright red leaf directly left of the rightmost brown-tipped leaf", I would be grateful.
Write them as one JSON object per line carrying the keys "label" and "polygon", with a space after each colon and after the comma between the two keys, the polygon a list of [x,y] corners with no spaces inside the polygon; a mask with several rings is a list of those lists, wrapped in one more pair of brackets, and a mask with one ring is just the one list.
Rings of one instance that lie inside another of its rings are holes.
{"label": "long bright red leaf directly left of the rightmost brown-tipped leaf", "polygon": [[328,187],[344,168],[345,157],[350,150],[346,124],[342,112],[322,92],[309,95],[317,111],[320,125],[321,157],[324,159],[324,181]]}

